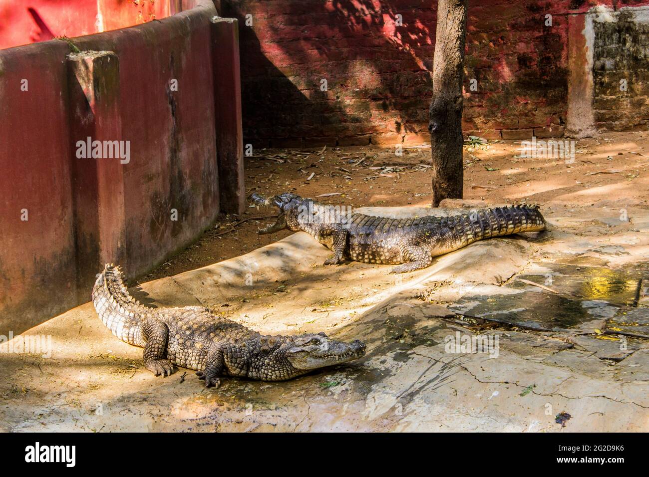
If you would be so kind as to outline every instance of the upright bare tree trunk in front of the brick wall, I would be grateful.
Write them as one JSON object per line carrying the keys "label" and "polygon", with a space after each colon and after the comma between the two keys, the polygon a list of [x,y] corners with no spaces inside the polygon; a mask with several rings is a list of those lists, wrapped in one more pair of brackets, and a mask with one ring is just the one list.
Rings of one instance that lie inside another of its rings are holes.
{"label": "upright bare tree trunk in front of the brick wall", "polygon": [[466,32],[467,0],[439,0],[433,99],[428,123],[434,207],[443,199],[462,198],[462,82]]}

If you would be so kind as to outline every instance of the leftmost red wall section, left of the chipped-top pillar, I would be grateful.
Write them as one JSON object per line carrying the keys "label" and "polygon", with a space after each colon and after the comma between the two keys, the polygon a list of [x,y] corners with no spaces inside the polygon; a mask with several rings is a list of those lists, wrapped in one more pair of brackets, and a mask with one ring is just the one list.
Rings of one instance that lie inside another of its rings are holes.
{"label": "leftmost red wall section, left of the chipped-top pillar", "polygon": [[77,302],[67,51],[63,42],[0,51],[0,323],[34,323]]}

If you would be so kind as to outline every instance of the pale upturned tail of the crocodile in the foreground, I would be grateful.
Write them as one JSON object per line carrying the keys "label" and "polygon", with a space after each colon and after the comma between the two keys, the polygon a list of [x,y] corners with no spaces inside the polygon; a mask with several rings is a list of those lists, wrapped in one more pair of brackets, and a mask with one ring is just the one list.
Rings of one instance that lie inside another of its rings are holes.
{"label": "pale upturned tail of the crocodile in the foreground", "polygon": [[149,310],[130,296],[120,267],[106,264],[97,275],[92,303],[106,327],[122,341],[140,345],[140,320]]}

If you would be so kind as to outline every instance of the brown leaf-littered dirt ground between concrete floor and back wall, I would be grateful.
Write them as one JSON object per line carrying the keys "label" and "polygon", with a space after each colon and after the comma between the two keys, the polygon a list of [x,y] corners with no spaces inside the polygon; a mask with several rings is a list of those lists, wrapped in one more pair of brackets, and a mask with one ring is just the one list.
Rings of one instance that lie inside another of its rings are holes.
{"label": "brown leaf-littered dirt ground between concrete floor and back wall", "polygon": [[[520,157],[520,141],[490,141],[464,150],[464,199],[487,203],[561,206],[646,206],[649,201],[649,132],[604,134],[576,141],[574,163]],[[326,147],[262,149],[246,158],[247,195],[294,191],[334,205],[430,206],[430,147]],[[313,174],[313,177],[311,177]],[[249,208],[241,220],[276,214]],[[185,251],[140,277],[140,281],[176,275],[247,253],[289,236],[284,230],[259,236],[272,219],[249,220],[233,228],[238,217],[219,217],[213,230]],[[228,230],[232,229],[231,232]]]}

